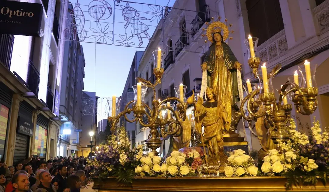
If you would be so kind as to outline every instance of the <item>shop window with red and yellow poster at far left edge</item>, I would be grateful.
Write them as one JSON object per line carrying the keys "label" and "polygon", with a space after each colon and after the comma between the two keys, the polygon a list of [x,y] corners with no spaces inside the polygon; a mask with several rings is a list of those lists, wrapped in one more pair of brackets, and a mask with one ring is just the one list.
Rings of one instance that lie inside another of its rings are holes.
{"label": "shop window with red and yellow poster at far left edge", "polygon": [[9,108],[0,104],[0,158],[3,158],[5,153],[8,116]]}

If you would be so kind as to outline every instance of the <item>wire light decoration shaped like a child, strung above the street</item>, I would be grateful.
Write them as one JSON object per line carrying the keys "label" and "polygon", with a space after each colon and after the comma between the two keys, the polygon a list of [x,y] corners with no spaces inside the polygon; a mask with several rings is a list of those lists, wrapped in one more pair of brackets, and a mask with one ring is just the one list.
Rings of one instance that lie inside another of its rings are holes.
{"label": "wire light decoration shaped like a child, strung above the street", "polygon": [[148,26],[145,23],[140,22],[139,20],[147,20],[145,17],[140,17],[139,13],[136,9],[129,6],[129,3],[126,4],[126,6],[121,5],[122,10],[122,16],[124,16],[124,20],[127,21],[127,23],[124,25],[124,28],[127,29],[128,25],[131,24],[130,30],[132,35],[137,35],[139,44],[138,46],[141,46],[143,44],[143,40],[140,34],[144,34],[148,40],[150,40],[150,36],[147,33],[147,30],[149,29]]}

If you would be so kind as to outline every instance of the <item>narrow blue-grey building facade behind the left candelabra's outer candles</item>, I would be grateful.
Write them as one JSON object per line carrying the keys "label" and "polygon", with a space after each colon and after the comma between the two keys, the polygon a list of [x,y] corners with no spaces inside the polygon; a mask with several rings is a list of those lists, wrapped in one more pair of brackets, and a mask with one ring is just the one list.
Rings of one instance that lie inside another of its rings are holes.
{"label": "narrow blue-grey building facade behind the left candelabra's outer candles", "polygon": [[[120,108],[121,111],[124,110],[125,106],[129,101],[134,100],[134,90],[132,88],[133,85],[136,85],[136,77],[137,77],[137,70],[139,68],[139,61],[141,56],[143,55],[143,51],[136,51],[134,55],[133,62],[131,64],[126,84],[124,86],[122,95],[121,95],[121,101],[120,101]],[[128,119],[133,119],[133,114],[127,114]],[[124,117],[121,118],[121,122],[124,124],[129,140],[131,141],[131,147],[135,146],[135,140],[136,140],[136,123],[129,123],[125,120]]]}

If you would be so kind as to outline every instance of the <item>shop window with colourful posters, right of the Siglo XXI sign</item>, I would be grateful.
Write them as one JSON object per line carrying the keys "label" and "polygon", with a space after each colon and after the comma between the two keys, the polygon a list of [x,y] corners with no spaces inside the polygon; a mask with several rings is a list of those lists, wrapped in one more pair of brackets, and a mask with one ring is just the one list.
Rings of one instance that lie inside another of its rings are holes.
{"label": "shop window with colourful posters, right of the Siglo XXI sign", "polygon": [[47,130],[40,125],[36,127],[36,143],[34,146],[34,154],[39,157],[46,158],[47,147]]}

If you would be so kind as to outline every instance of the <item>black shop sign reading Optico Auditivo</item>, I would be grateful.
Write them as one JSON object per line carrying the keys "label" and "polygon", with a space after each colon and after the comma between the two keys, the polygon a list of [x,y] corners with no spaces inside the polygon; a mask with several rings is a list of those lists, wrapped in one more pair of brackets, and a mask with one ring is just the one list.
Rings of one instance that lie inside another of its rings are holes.
{"label": "black shop sign reading Optico Auditivo", "polygon": [[39,36],[42,12],[39,3],[1,1],[0,33]]}

